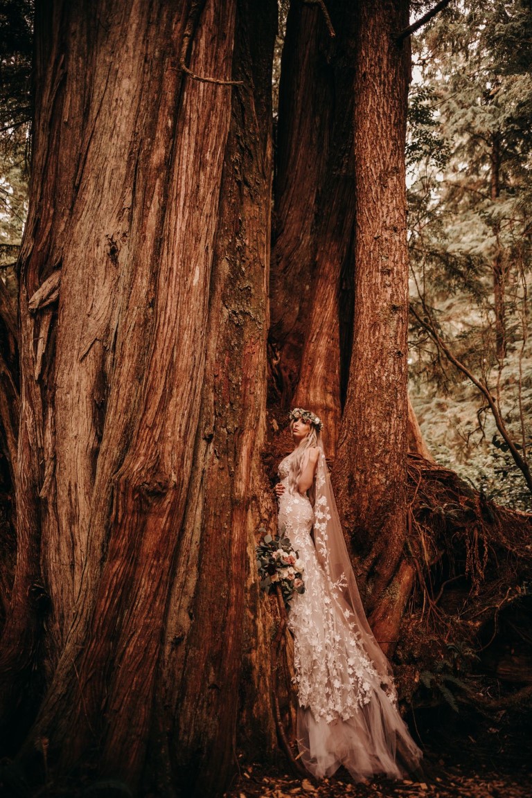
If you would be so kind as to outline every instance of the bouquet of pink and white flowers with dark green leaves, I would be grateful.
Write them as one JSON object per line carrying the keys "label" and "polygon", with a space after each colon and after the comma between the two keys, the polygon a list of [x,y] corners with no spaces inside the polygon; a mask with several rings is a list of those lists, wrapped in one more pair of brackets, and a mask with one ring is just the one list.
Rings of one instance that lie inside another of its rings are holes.
{"label": "bouquet of pink and white flowers with dark green leaves", "polygon": [[[258,531],[266,532],[266,529],[261,527]],[[279,537],[264,535],[257,546],[257,566],[262,590],[270,593],[278,584],[285,606],[288,606],[294,592],[305,592],[302,574],[305,565],[291,547],[285,531],[286,527],[282,527]]]}

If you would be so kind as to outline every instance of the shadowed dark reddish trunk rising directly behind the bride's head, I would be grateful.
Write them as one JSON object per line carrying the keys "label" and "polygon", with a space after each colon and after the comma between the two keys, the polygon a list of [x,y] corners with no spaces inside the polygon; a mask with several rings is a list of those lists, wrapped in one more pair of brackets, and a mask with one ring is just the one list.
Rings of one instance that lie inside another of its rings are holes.
{"label": "shadowed dark reddish trunk rising directly behind the bride's head", "polygon": [[319,8],[300,2],[290,6],[280,86],[271,296],[285,404],[311,407],[322,418],[325,448],[333,456],[342,376],[345,381],[341,372],[349,370],[350,356],[341,310],[347,310],[346,326],[353,324],[350,297],[341,308],[340,295],[341,275],[352,258],[355,211],[355,19],[345,3],[332,2],[328,10],[334,39]]}

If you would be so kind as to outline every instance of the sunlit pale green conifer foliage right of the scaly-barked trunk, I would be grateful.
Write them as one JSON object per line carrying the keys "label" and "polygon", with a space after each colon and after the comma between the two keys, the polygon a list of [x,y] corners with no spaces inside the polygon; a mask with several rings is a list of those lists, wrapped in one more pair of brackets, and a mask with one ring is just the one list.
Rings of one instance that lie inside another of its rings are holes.
{"label": "sunlit pale green conifer foliage right of the scaly-barked trunk", "polygon": [[[532,444],[532,11],[451,4],[414,45],[407,146],[411,395],[429,448],[491,497],[530,490],[485,397],[529,461]],[[505,450],[506,449],[506,450]]]}

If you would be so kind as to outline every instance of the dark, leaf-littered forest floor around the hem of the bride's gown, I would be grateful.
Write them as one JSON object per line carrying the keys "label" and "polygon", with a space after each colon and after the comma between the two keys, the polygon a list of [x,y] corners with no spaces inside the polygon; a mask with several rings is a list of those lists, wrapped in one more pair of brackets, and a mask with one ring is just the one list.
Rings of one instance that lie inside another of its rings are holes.
{"label": "dark, leaf-littered forest floor around the hem of the bride's gown", "polygon": [[[423,776],[389,780],[377,776],[355,782],[341,768],[329,779],[286,775],[278,767],[242,764],[226,798],[530,798],[532,796],[532,729],[515,718],[491,725],[480,721],[475,737],[469,723],[456,715],[439,729],[422,735]],[[243,757],[241,758],[241,761]],[[285,766],[286,768],[286,766]],[[419,778],[419,780],[418,780]]]}

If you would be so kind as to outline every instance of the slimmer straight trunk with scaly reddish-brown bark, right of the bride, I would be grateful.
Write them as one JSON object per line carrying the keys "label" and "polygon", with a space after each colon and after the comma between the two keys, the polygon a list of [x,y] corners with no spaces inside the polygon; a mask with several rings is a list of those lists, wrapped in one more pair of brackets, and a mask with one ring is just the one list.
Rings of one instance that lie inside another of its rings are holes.
{"label": "slimmer straight trunk with scaly reddish-brown bark, right of the bride", "polygon": [[[408,3],[359,2],[357,16],[355,318],[333,480],[372,610],[396,571],[406,533],[409,50],[395,36],[408,24]],[[380,639],[378,623],[374,631]]]}

